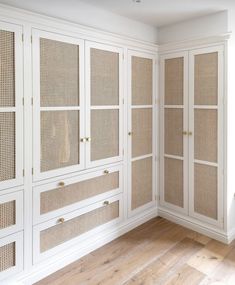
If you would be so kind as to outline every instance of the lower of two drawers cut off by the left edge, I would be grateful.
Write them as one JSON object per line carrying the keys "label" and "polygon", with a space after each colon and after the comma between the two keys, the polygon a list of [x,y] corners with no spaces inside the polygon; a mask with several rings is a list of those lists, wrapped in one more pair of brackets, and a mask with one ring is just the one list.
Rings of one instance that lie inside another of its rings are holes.
{"label": "lower of two drawers cut off by the left edge", "polygon": [[21,270],[23,270],[23,232],[0,239],[0,280]]}

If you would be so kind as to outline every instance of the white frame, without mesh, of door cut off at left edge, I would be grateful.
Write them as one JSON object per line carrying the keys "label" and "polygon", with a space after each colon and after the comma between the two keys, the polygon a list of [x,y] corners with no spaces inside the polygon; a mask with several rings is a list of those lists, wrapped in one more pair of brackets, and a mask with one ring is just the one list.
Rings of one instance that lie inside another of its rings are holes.
{"label": "white frame, without mesh, of door cut off at left edge", "polygon": [[15,106],[0,107],[0,113],[15,113],[15,178],[0,182],[0,191],[11,188],[24,183],[24,148],[23,148],[23,42],[22,26],[0,22],[0,29],[14,33],[14,49],[15,49]]}

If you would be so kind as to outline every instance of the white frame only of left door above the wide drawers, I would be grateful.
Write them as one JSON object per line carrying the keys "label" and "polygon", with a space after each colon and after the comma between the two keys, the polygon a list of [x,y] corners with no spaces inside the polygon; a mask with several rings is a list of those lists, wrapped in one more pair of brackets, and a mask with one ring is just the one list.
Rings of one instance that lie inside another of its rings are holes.
{"label": "white frame only of left door above the wide drawers", "polygon": [[[40,38],[60,41],[79,46],[79,106],[41,107],[40,106]],[[85,98],[84,98],[84,40],[53,32],[32,29],[33,58],[33,177],[34,181],[47,179],[85,168]],[[40,113],[41,111],[79,111],[79,164],[41,172],[40,169]]]}

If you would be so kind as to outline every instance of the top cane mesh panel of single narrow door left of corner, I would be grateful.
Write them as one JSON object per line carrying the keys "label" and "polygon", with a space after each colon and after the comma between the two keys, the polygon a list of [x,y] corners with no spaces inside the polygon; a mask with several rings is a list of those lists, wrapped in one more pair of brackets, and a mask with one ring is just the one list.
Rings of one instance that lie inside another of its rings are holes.
{"label": "top cane mesh panel of single narrow door left of corner", "polygon": [[132,105],[152,105],[153,61],[132,57]]}

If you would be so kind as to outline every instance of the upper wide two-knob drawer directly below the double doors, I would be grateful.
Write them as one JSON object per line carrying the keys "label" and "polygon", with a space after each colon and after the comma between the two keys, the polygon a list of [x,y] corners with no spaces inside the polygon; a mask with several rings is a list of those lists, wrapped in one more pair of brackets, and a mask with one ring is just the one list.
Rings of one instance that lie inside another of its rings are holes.
{"label": "upper wide two-knob drawer directly below the double doors", "polygon": [[121,191],[121,166],[35,187],[34,223],[58,217]]}

